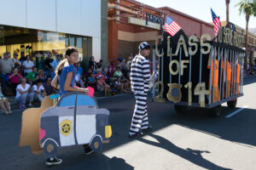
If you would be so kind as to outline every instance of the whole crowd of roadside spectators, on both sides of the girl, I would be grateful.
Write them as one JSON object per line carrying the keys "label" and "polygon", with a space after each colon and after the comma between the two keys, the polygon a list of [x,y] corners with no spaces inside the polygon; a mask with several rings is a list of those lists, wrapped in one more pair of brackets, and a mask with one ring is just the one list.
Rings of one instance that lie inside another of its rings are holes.
{"label": "whole crowd of roadside spectators, on both sides of the girl", "polygon": [[[55,77],[55,68],[63,59],[62,55],[56,54],[55,59],[52,59],[52,54],[48,54],[47,59],[41,60],[38,68],[34,65],[30,55],[25,56],[21,53],[20,59],[17,53],[13,56],[10,58],[9,53],[4,53],[3,59],[0,59],[1,87],[3,92],[10,88],[20,108],[32,106],[32,102],[42,102],[45,96],[58,93],[50,82]],[[98,95],[131,93],[129,72],[133,57],[134,55],[131,54],[126,62],[119,55],[118,60],[110,60],[108,66],[103,67],[102,59],[96,62],[91,56],[87,71],[81,67],[80,63],[75,65],[76,85],[95,88]],[[0,105],[2,105],[1,101]]]}

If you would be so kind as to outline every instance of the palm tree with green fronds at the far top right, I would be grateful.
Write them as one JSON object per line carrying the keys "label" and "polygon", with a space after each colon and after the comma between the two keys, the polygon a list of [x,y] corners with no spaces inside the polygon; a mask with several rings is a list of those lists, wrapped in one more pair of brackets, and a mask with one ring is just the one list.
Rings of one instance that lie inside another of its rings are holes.
{"label": "palm tree with green fronds at the far top right", "polygon": [[[248,36],[248,22],[250,16],[256,16],[256,1],[255,0],[241,0],[241,2],[237,3],[236,6],[239,6],[239,14],[241,13],[246,15],[246,34],[245,34],[245,47],[246,47],[246,57],[244,68],[247,68],[247,36]],[[250,59],[250,63],[252,64],[253,59]]]}

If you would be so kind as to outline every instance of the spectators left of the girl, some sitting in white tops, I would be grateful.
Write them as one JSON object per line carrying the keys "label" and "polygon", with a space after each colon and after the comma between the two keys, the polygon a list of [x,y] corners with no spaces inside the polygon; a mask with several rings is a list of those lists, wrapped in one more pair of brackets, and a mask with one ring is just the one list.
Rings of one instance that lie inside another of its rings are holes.
{"label": "spectators left of the girl, some sitting in white tops", "polygon": [[[42,102],[46,95],[54,94],[55,90],[50,86],[51,76],[54,73],[54,68],[58,64],[59,56],[56,59],[51,59],[51,54],[45,59],[45,70],[39,70],[31,60],[30,55],[14,53],[13,58],[10,58],[9,53],[3,54],[3,59],[0,59],[0,77],[3,96],[10,89],[11,95],[15,96],[15,100],[20,104],[20,108],[25,108],[26,103],[32,106],[32,102]],[[55,62],[53,62],[55,61]],[[1,96],[0,96],[1,97]],[[0,106],[9,113],[0,101]]]}

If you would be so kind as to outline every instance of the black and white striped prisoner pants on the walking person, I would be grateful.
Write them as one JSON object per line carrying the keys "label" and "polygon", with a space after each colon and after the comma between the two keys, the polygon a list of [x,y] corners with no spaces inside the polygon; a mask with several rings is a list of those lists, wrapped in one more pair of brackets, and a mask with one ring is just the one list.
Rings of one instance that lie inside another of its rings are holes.
{"label": "black and white striped prisoner pants on the walking person", "polygon": [[148,128],[147,94],[134,94],[136,104],[131,120],[130,134]]}

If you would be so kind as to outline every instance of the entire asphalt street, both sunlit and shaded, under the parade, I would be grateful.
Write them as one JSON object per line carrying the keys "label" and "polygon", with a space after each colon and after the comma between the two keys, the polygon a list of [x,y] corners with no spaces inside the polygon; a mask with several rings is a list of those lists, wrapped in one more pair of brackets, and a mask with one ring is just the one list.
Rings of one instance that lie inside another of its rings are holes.
{"label": "entire asphalt street, both sunlit and shaded, under the parade", "polygon": [[47,167],[44,155],[33,155],[30,147],[19,147],[22,111],[1,114],[0,169],[255,170],[256,77],[244,82],[244,96],[236,109],[223,104],[217,118],[195,108],[177,114],[173,105],[153,103],[148,94],[149,123],[154,129],[143,138],[128,138],[133,95],[98,99],[100,107],[111,113],[110,143],[103,144],[102,153],[90,156],[83,155],[82,146],[61,148],[58,157],[63,162],[54,167]]}

